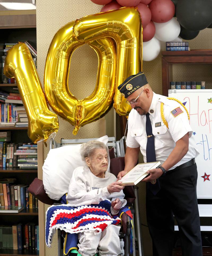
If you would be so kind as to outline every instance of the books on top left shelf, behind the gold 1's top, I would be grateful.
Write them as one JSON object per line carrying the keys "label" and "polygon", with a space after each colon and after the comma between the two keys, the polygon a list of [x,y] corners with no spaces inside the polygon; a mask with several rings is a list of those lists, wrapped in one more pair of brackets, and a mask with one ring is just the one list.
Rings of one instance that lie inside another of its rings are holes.
{"label": "books on top left shelf, behind the gold 1's top", "polygon": [[[24,43],[29,48],[29,51],[30,51],[30,53],[32,55],[32,58],[33,58],[33,61],[34,61],[34,64],[37,68],[37,51],[34,49],[34,47],[32,46],[32,44],[29,41],[26,41]],[[3,49],[4,56],[2,56],[2,71],[1,71],[2,72],[1,77],[2,77],[2,83],[3,84],[13,84],[13,83],[15,83],[14,78],[7,78],[4,75],[4,72],[3,72],[7,51],[14,45],[16,45],[16,43],[5,43],[5,48]]]}

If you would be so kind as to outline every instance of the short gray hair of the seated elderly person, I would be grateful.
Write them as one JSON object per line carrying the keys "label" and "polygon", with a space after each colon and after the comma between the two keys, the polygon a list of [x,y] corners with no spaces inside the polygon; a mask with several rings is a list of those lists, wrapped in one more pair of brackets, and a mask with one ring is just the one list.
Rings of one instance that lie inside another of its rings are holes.
{"label": "short gray hair of the seated elderly person", "polygon": [[80,154],[83,161],[86,157],[90,157],[96,149],[105,149],[108,152],[108,147],[101,141],[91,140],[86,143],[82,143],[80,147]]}

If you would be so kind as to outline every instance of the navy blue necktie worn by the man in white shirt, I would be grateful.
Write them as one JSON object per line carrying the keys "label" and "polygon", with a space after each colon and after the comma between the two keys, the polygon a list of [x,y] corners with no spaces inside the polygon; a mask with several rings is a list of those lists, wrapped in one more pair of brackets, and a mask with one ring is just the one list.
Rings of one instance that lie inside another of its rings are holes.
{"label": "navy blue necktie worn by the man in white shirt", "polygon": [[[147,156],[147,163],[149,162],[156,162],[155,156],[155,149],[154,149],[154,135],[152,134],[152,125],[149,119],[149,113],[146,114],[146,133],[147,133],[147,149],[146,149],[146,156]],[[160,190],[159,180],[156,180],[155,184],[148,182],[148,188],[150,191],[156,195]]]}

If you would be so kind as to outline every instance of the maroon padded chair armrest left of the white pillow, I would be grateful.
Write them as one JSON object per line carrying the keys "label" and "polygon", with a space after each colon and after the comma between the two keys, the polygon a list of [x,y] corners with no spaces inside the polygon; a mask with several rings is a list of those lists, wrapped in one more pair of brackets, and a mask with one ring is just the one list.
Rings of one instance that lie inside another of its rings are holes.
{"label": "maroon padded chair armrest left of the white pillow", "polygon": [[43,181],[35,178],[33,182],[30,184],[28,191],[33,194],[38,200],[42,203],[46,203],[47,205],[53,205],[54,203],[60,203],[60,201],[56,201],[48,197],[46,191],[43,186]]}

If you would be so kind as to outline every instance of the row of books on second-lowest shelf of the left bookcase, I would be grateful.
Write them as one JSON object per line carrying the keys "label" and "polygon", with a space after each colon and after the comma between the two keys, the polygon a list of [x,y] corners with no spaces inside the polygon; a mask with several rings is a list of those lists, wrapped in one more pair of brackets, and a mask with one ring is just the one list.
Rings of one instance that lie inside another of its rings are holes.
{"label": "row of books on second-lowest shelf of the left bookcase", "polygon": [[[38,208],[38,199],[28,192],[28,188],[29,185],[0,183],[0,212],[20,212],[23,209]],[[4,206],[21,207],[11,209]]]}

